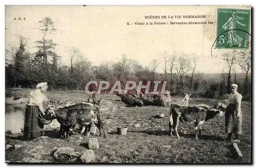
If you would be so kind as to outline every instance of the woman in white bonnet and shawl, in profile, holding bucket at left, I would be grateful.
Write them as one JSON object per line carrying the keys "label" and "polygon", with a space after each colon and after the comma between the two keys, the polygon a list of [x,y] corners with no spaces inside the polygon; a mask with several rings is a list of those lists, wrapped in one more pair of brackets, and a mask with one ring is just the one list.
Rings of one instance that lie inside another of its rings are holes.
{"label": "woman in white bonnet and shawl, in profile, holding bucket at left", "polygon": [[44,94],[48,88],[47,82],[42,82],[36,85],[36,89],[32,90],[29,95],[29,100],[26,103],[25,124],[24,124],[24,140],[34,139],[45,135],[44,125],[38,123],[37,116],[41,112],[45,114],[42,106],[48,99]]}

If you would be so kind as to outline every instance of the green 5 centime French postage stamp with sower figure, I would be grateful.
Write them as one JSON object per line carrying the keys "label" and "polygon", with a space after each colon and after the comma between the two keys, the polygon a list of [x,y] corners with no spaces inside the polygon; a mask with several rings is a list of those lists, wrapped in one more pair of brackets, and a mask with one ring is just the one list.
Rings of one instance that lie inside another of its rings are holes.
{"label": "green 5 centime French postage stamp with sower figure", "polygon": [[250,10],[218,9],[216,47],[227,49],[248,49]]}

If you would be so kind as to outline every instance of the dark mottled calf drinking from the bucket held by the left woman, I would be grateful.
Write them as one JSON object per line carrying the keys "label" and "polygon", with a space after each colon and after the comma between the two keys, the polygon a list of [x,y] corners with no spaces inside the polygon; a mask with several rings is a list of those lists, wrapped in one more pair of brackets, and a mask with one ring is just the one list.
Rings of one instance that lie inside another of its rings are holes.
{"label": "dark mottled calf drinking from the bucket held by the left woman", "polygon": [[99,128],[99,132],[100,128],[103,130],[104,136],[106,137],[102,126],[102,121],[100,119],[99,108],[94,106],[92,103],[79,102],[57,109],[55,109],[54,106],[49,105],[46,108],[46,115],[49,114],[51,115],[52,119],[56,118],[60,123],[61,137],[65,136],[65,133],[66,137],[72,134],[77,123],[86,126],[86,131],[84,134],[87,134],[88,129],[89,131],[91,129],[92,122]]}

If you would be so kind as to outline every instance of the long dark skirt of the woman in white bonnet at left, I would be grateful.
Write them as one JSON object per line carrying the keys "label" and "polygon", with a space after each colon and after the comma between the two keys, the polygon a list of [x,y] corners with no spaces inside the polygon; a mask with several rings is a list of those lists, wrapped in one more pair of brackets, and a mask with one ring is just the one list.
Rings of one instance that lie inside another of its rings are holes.
{"label": "long dark skirt of the woman in white bonnet at left", "polygon": [[39,111],[38,106],[27,106],[24,124],[24,140],[45,135],[44,125],[38,123],[37,120]]}

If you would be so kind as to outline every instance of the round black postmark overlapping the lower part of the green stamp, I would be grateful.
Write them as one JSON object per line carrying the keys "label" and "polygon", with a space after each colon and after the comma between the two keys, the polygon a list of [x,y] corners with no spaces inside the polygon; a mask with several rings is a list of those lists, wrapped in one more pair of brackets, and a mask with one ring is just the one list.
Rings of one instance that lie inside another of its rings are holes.
{"label": "round black postmark overlapping the lower part of the green stamp", "polygon": [[212,43],[210,53],[214,65],[217,66],[223,60],[230,62],[245,59],[251,54],[251,34],[241,29],[226,30]]}

